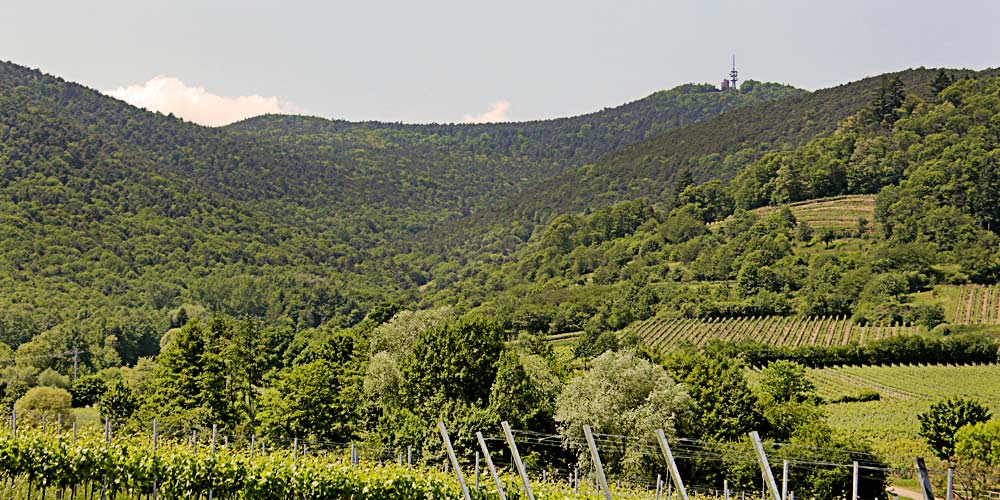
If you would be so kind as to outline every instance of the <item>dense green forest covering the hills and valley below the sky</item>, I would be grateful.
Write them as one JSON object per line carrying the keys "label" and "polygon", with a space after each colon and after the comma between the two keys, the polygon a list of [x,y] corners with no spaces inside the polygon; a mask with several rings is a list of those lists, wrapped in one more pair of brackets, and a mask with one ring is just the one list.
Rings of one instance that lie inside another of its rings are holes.
{"label": "dense green forest covering the hills and valley below the sky", "polygon": [[[572,443],[588,424],[865,451],[806,365],[997,361],[995,332],[949,324],[934,294],[1000,280],[998,96],[993,71],[917,69],[528,123],[205,128],[0,64],[2,404],[425,457],[438,420],[466,449],[506,420]],[[823,198],[874,208],[831,224],[790,205]],[[922,333],[652,349],[628,330],[765,316]],[[759,484],[743,463],[683,466]],[[850,487],[801,474],[803,495]]]}

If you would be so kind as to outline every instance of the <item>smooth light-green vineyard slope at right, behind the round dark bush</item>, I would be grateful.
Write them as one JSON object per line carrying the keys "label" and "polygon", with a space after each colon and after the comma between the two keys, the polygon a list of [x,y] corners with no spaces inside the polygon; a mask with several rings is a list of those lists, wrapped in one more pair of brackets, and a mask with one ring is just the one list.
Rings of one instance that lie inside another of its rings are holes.
{"label": "smooth light-green vineyard slope at right, behind the round dark bush", "polygon": [[879,401],[826,405],[828,422],[883,454],[907,460],[929,453],[917,435],[917,415],[938,400],[972,397],[1000,414],[1000,365],[843,366],[810,369],[808,374],[827,400],[862,390],[878,392]]}

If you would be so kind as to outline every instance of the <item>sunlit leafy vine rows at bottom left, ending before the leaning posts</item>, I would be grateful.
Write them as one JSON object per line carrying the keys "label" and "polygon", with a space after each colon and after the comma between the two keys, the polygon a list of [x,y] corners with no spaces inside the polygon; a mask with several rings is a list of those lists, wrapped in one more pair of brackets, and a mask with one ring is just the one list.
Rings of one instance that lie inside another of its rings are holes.
{"label": "sunlit leafy vine rows at bottom left, ending before the leaning posts", "polygon": [[[452,477],[429,469],[352,466],[322,456],[293,460],[281,451],[255,458],[230,450],[210,456],[170,442],[161,442],[153,453],[147,439],[106,447],[90,439],[76,444],[32,433],[17,439],[4,436],[0,464],[10,478],[5,487],[18,498],[44,497],[46,490],[55,490],[50,494],[56,496],[101,490],[109,498],[137,499],[148,496],[154,482],[163,498],[461,498]],[[484,499],[496,498],[488,488],[482,494]]]}

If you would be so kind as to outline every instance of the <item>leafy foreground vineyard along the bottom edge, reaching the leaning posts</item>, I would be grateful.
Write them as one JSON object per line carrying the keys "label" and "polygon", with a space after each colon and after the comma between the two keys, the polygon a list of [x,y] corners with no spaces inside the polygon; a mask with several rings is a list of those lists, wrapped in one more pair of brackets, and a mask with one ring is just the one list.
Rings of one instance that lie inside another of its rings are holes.
{"label": "leafy foreground vineyard along the bottom edge, reaching the leaning posts", "polygon": [[[30,425],[19,423],[16,431],[10,419],[0,424],[0,498],[462,500],[465,497],[457,475],[449,467],[443,441],[439,454],[418,457],[413,456],[412,449],[397,450],[397,454],[388,453],[387,448],[360,444],[356,447],[353,443],[255,440],[247,436],[234,436],[230,440],[222,435],[216,439],[214,430],[209,434],[211,438],[197,429],[188,429],[187,438],[180,437],[183,432],[171,431],[172,438],[157,439],[155,433],[135,430],[112,437],[109,429],[113,426],[101,430],[97,420],[79,422],[73,416],[67,417],[49,419],[47,424],[37,419]],[[527,449],[563,450],[559,435],[511,432]],[[601,447],[617,448],[622,439],[628,438],[595,433],[595,439]],[[522,479],[516,474],[510,455],[503,450],[504,438],[487,435],[484,440],[495,453],[496,472],[505,496],[495,486],[492,470],[488,472],[478,452],[473,456],[472,448],[456,446],[456,458],[472,498],[526,498],[521,489]],[[638,440],[633,446],[659,451],[645,440]],[[769,446],[769,449],[775,448]],[[746,460],[752,460],[749,447],[743,446],[740,451],[747,455]],[[682,452],[678,458],[682,457],[687,455]],[[616,497],[657,500],[667,496],[662,475],[646,484],[614,476],[612,472],[609,470],[609,487]],[[604,498],[589,464],[575,469],[526,464],[525,473],[530,476],[534,497],[539,500]],[[715,490],[698,485],[691,485],[689,491],[703,498],[717,496]]]}

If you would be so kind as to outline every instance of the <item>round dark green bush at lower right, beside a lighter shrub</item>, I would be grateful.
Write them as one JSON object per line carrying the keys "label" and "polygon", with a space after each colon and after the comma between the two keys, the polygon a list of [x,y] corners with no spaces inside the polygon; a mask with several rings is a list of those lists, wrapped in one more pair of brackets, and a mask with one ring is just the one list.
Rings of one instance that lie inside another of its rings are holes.
{"label": "round dark green bush at lower right, beside a lighter shrub", "polygon": [[956,433],[969,424],[986,422],[990,410],[982,403],[965,398],[949,398],[931,405],[930,410],[917,415],[920,437],[927,441],[941,460],[955,455]]}

